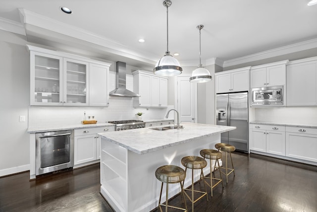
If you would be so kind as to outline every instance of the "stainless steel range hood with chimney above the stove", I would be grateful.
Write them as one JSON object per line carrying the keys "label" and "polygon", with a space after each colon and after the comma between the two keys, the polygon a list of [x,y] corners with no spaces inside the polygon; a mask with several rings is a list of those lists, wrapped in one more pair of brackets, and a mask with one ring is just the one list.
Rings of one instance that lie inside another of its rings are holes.
{"label": "stainless steel range hood with chimney above the stove", "polygon": [[109,96],[119,96],[119,97],[139,97],[139,94],[136,94],[128,89],[126,89],[126,64],[123,62],[116,62],[116,76],[115,76],[115,89],[109,92]]}

